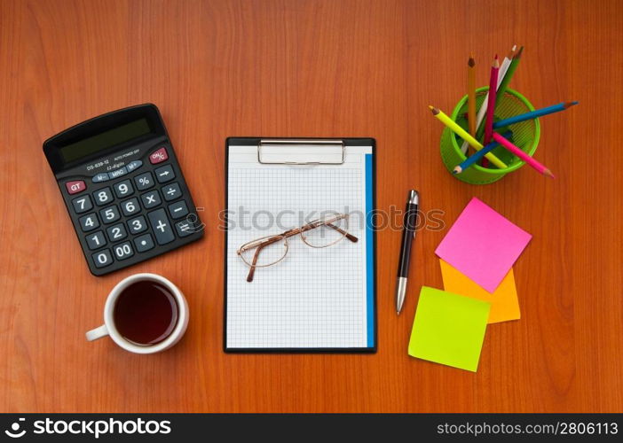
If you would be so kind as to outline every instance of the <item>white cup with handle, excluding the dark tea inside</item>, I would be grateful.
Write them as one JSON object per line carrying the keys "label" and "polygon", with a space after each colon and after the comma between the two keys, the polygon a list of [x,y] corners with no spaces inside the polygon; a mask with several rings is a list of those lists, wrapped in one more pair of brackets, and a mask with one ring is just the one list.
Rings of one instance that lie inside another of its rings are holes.
{"label": "white cup with handle, excluding the dark tea inside", "polygon": [[[170,333],[170,336],[162,340],[162,342],[151,346],[135,345],[134,343],[123,338],[114,326],[114,303],[125,288],[130,286],[130,284],[135,284],[141,281],[152,281],[166,286],[177,301],[178,314],[175,329]],[[188,303],[186,303],[186,299],[182,291],[179,291],[175,284],[172,284],[163,276],[157,276],[155,274],[135,274],[124,278],[121,282],[114,286],[113,291],[110,291],[108,298],[106,299],[106,306],[104,307],[104,324],[99,326],[99,328],[88,331],[86,333],[86,338],[89,341],[93,341],[109,335],[110,338],[113,339],[114,343],[121,346],[126,351],[130,351],[130,353],[154,354],[164,351],[165,349],[169,349],[171,346],[175,345],[179,339],[184,336],[187,326]]]}

